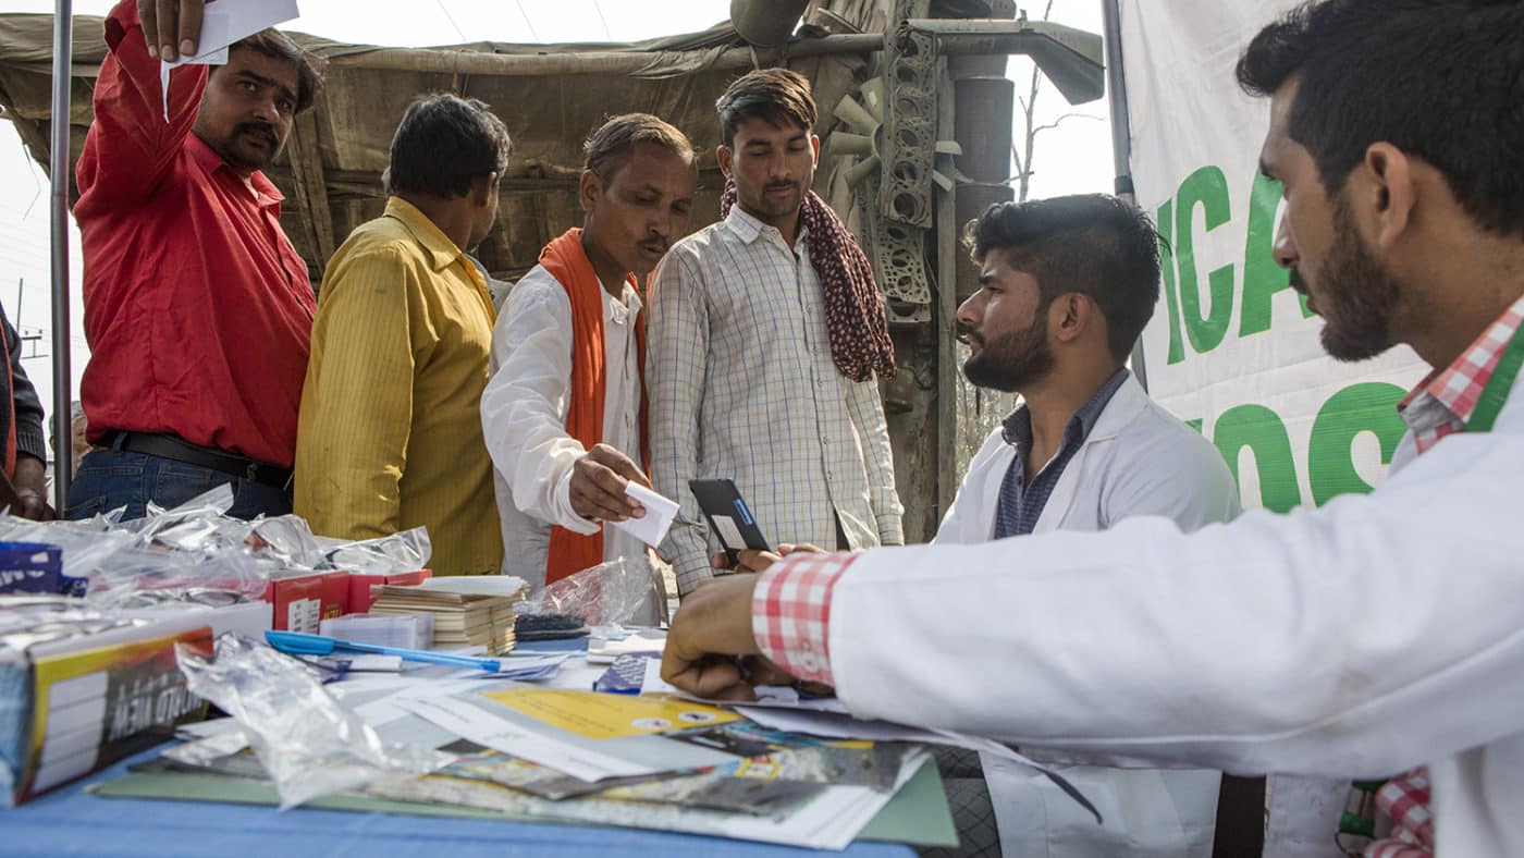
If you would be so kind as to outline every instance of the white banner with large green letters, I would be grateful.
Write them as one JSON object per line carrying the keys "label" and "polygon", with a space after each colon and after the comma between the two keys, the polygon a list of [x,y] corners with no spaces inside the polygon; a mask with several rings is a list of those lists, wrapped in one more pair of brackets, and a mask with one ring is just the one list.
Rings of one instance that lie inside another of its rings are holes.
{"label": "white banner with large green letters", "polygon": [[1222,451],[1245,506],[1286,511],[1369,491],[1404,425],[1398,399],[1426,372],[1408,347],[1343,364],[1318,343],[1271,256],[1280,184],[1259,174],[1266,99],[1237,88],[1248,41],[1294,3],[1122,3],[1138,204],[1166,239],[1158,311],[1143,332],[1154,398]]}

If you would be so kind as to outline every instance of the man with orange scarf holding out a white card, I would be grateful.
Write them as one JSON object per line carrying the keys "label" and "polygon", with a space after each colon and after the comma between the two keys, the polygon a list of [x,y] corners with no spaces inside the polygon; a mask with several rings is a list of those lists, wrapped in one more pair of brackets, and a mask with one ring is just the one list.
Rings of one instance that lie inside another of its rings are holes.
{"label": "man with orange scarf holding out a white card", "polygon": [[585,152],[582,227],[509,293],[482,395],[503,571],[536,590],[614,558],[649,575],[645,546],[602,523],[645,514],[625,494],[651,485],[640,285],[686,232],[696,183],[687,137],[655,116],[610,119]]}

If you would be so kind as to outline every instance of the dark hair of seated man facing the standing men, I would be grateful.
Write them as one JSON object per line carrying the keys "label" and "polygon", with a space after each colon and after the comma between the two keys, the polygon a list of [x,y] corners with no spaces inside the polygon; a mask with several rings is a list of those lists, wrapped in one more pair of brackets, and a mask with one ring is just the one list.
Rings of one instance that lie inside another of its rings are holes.
{"label": "dark hair of seated man facing the standing men", "polygon": [[1038,282],[1042,306],[1084,293],[1106,317],[1106,346],[1125,361],[1158,303],[1158,232],[1141,209],[1106,194],[995,203],[963,229],[978,262],[1010,250]]}

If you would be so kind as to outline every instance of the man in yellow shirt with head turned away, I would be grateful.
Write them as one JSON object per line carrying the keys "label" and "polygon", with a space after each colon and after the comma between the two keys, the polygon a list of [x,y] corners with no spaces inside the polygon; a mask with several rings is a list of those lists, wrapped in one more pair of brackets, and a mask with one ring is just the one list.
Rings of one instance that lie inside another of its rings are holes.
{"label": "man in yellow shirt with head turned away", "polygon": [[361,539],[428,527],[436,575],[503,562],[479,405],[497,314],[466,256],[497,216],[507,130],[425,96],[392,139],[386,213],[334,255],[302,392],[296,512]]}

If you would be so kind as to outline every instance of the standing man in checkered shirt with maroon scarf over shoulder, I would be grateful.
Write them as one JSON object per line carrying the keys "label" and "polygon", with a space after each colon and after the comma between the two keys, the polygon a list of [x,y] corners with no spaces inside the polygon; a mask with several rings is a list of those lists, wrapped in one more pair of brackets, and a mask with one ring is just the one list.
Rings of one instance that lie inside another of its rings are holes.
{"label": "standing man in checkered shirt with maroon scarf over shoulder", "polygon": [[893,346],[867,259],[809,190],[809,82],[762,69],[716,107],[724,219],[661,261],[646,349],[651,479],[683,506],[660,553],[684,596],[713,575],[719,546],[693,479],[735,480],[779,543],[905,541],[875,379],[893,372]]}

